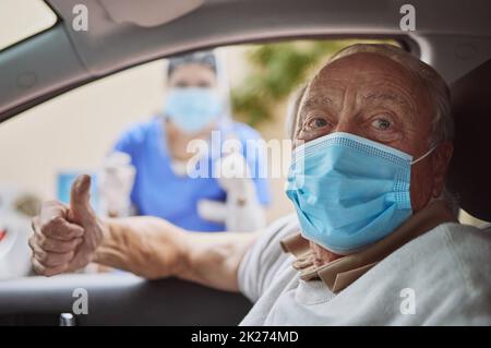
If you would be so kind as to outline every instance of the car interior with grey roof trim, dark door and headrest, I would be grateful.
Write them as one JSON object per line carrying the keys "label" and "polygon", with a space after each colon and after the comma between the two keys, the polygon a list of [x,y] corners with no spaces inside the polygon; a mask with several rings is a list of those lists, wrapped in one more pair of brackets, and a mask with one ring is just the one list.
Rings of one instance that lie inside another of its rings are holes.
{"label": "car interior with grey roof trim, dark door and headrest", "polygon": [[[463,221],[491,233],[489,1],[414,0],[417,27],[408,32],[399,27],[403,0],[43,2],[56,15],[52,25],[0,49],[0,134],[26,112],[34,120],[37,108],[79,88],[179,53],[292,40],[392,40],[434,67],[451,86],[455,152],[448,190],[467,217]],[[80,3],[88,10],[88,31],[73,28]],[[43,136],[57,132],[62,130]],[[0,160],[19,147],[4,145]],[[5,172],[14,176],[15,170],[22,168]],[[252,305],[241,295],[173,278],[113,273],[15,277],[0,280],[0,325],[58,325],[60,314],[72,311],[77,288],[88,291],[91,309],[89,315],[76,315],[75,325],[237,325]]]}

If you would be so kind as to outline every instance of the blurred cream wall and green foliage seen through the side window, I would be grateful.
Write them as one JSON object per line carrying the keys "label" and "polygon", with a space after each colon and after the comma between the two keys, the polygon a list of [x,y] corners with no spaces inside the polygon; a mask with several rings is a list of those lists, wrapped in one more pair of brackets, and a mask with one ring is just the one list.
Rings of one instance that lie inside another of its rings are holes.
{"label": "blurred cream wall and green foliage seen through the side window", "polygon": [[[226,62],[233,117],[258,129],[266,141],[288,139],[285,119],[289,95],[332,53],[355,41],[360,40],[219,48]],[[165,71],[166,60],[132,68],[1,123],[0,183],[43,200],[56,199],[59,173],[97,171],[124,130],[161,110]],[[291,212],[283,192],[284,178],[271,179],[271,189],[268,220]]]}

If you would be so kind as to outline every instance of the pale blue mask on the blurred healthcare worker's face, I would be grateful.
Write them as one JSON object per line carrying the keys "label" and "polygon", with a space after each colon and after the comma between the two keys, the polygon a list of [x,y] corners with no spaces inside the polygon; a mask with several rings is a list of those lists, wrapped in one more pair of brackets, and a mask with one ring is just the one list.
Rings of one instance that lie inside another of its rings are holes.
{"label": "pale blue mask on the blurred healthcare worker's face", "polygon": [[193,134],[220,116],[221,101],[212,88],[172,88],[164,111],[182,132]]}

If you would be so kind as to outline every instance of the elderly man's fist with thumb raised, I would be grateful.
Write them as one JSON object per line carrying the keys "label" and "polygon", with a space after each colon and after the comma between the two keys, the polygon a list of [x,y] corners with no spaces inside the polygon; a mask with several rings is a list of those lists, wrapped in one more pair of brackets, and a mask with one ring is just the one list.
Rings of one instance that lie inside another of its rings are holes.
{"label": "elderly man's fist with thumb raised", "polygon": [[105,231],[88,203],[89,189],[91,177],[80,176],[72,185],[70,206],[57,201],[43,203],[29,239],[37,274],[74,272],[94,259]]}

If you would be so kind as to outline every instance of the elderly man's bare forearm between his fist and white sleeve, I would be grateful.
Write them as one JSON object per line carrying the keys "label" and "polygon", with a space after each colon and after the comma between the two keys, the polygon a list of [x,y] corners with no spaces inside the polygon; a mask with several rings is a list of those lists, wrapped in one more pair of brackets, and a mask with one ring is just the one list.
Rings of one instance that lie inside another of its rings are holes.
{"label": "elderly man's bare forearm between his fist and white sleeve", "polygon": [[94,261],[155,279],[176,276],[238,291],[237,271],[258,233],[192,232],[156,217],[103,221]]}

